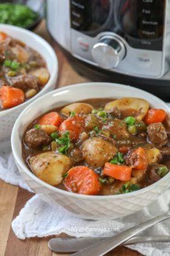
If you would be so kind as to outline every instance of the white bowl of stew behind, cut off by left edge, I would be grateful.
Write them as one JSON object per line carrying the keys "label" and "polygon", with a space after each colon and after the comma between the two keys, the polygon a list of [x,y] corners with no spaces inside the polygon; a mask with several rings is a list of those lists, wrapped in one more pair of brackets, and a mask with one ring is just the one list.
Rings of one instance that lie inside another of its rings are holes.
{"label": "white bowl of stew behind, cut off by left edge", "polygon": [[55,88],[57,58],[41,37],[23,28],[0,25],[0,142],[14,121],[40,95]]}

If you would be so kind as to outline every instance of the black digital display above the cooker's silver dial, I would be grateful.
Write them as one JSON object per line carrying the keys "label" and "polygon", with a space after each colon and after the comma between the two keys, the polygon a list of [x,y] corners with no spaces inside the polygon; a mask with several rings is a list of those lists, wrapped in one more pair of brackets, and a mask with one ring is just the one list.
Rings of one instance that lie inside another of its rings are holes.
{"label": "black digital display above the cooker's silver dial", "polygon": [[139,49],[162,50],[165,0],[71,0],[72,28],[115,32]]}

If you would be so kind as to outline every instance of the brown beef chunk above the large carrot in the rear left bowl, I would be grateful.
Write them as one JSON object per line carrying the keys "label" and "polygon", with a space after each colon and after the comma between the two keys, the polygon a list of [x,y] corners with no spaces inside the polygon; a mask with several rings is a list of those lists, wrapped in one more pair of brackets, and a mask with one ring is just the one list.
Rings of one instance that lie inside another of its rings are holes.
{"label": "brown beef chunk above the large carrot in the rear left bowl", "polygon": [[7,80],[11,87],[19,88],[24,92],[28,89],[35,89],[38,91],[40,86],[38,78],[32,75],[7,76]]}

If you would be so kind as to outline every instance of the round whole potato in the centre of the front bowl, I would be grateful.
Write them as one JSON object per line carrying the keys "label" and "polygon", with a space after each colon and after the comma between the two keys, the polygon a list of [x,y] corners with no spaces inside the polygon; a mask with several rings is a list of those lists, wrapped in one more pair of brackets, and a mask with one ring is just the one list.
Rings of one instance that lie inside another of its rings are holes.
{"label": "round whole potato in the centre of the front bowl", "polygon": [[103,167],[105,162],[114,157],[118,149],[102,138],[92,137],[81,147],[85,162],[92,168]]}

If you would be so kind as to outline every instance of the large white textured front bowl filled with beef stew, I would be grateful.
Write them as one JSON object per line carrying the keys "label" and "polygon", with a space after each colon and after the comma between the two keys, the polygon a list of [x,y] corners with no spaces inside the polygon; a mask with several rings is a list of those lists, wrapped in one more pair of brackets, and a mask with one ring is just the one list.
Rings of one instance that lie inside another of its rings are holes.
{"label": "large white textured front bowl filled with beef stew", "polygon": [[21,114],[12,134],[16,164],[31,189],[89,219],[126,216],[156,200],[169,186],[169,145],[166,104],[110,83],[45,95]]}

